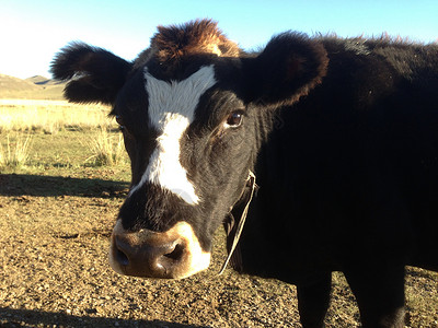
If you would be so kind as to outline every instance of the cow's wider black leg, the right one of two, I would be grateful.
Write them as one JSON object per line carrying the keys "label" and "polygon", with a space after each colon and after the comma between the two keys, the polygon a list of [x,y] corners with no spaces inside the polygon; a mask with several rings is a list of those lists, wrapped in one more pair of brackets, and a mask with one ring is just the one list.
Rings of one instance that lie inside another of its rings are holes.
{"label": "cow's wider black leg, the right one of two", "polygon": [[404,327],[404,266],[380,262],[345,270],[364,327]]}

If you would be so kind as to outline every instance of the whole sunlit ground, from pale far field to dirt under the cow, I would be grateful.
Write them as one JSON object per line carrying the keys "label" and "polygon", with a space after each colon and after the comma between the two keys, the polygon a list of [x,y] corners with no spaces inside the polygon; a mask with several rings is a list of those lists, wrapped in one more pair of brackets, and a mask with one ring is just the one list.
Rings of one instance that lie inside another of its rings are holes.
{"label": "whole sunlit ground, from pale far field to dirt under the cow", "polygon": [[[23,163],[0,167],[0,326],[299,327],[295,286],[231,269],[217,276],[222,232],[211,268],[183,281],[110,269],[108,238],[130,168],[126,155],[112,165],[94,161],[96,140],[119,147],[106,114],[65,102],[0,102],[3,157],[30,138]],[[333,288],[326,326],[358,327],[341,273]],[[438,327],[437,273],[408,268],[406,308],[406,327]]]}

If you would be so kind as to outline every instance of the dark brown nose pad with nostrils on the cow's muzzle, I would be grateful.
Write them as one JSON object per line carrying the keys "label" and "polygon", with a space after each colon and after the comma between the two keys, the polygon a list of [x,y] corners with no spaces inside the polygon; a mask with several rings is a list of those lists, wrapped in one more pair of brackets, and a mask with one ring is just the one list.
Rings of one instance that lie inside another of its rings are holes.
{"label": "dark brown nose pad with nostrils on the cow's muzzle", "polygon": [[185,253],[185,246],[178,239],[139,242],[125,235],[115,235],[112,247],[113,258],[123,273],[137,277],[172,278]]}

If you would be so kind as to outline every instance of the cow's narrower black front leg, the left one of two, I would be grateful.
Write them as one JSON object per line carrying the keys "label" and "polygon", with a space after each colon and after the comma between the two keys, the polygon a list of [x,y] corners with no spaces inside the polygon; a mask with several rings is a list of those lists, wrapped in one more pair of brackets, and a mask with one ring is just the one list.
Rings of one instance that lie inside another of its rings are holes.
{"label": "cow's narrower black front leg, the left one of two", "polygon": [[297,285],[298,309],[304,328],[324,326],[325,314],[330,303],[332,273],[328,272],[319,282],[310,285]]}

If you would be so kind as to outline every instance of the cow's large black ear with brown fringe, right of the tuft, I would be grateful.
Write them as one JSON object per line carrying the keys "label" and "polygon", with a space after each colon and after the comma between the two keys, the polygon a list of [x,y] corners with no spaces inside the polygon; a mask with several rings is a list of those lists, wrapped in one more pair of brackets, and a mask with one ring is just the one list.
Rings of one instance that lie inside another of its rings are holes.
{"label": "cow's large black ear with brown fringe, right of the tuft", "polygon": [[244,97],[269,107],[293,104],[321,83],[327,65],[327,52],[318,39],[280,34],[257,57],[242,59]]}

